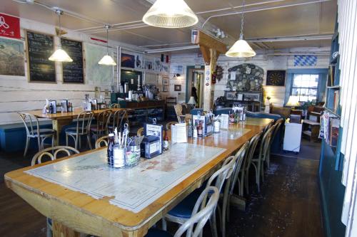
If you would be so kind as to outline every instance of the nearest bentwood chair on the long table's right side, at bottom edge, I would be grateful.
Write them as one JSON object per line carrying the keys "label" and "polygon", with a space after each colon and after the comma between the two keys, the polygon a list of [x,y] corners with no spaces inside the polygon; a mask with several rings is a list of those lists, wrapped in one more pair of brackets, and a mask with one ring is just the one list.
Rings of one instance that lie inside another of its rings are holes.
{"label": "nearest bentwood chair on the long table's right side, at bottom edge", "polygon": [[[207,196],[210,196],[206,201]],[[208,219],[214,215],[219,199],[219,191],[216,186],[208,186],[204,189],[193,206],[191,218],[188,218],[176,231],[174,237],[180,237],[186,232],[186,236],[201,236],[203,227]],[[149,229],[145,237],[172,237],[170,233],[156,228]]]}

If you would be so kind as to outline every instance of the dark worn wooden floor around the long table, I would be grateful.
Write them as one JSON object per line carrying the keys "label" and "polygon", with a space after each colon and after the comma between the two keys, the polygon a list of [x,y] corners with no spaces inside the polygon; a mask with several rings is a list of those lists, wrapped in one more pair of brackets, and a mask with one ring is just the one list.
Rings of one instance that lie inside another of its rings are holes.
{"label": "dark worn wooden floor around the long table", "polygon": [[[317,154],[320,148],[316,144],[313,147]],[[228,237],[323,236],[318,160],[286,155],[272,157],[261,194],[251,185],[246,211],[231,211]],[[28,166],[30,159],[31,154],[23,158],[21,154],[0,152],[0,236],[46,236],[46,218],[4,185],[4,173]],[[210,236],[209,228],[205,236]]]}

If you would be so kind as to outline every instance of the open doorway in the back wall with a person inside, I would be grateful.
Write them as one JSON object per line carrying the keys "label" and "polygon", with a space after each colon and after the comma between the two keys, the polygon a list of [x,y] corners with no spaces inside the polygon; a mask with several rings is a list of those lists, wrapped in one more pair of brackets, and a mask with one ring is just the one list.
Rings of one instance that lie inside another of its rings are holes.
{"label": "open doorway in the back wall with a person inside", "polygon": [[201,108],[203,106],[203,66],[201,68],[195,68],[195,66],[188,66],[186,78],[186,102],[188,102],[191,96],[193,96],[193,98],[195,98],[196,100],[196,107]]}

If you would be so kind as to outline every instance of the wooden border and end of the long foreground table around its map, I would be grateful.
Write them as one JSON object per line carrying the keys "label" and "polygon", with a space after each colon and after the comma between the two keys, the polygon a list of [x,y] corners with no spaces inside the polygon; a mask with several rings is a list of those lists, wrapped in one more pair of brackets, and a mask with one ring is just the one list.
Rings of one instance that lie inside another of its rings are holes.
{"label": "wooden border and end of the long foreground table around its map", "polygon": [[[188,143],[219,147],[225,150],[137,213],[110,204],[113,197],[105,196],[102,199],[94,199],[87,194],[25,173],[36,167],[51,165],[83,154],[91,154],[94,151],[9,172],[5,174],[5,182],[6,186],[41,214],[53,219],[54,236],[79,236],[79,232],[96,236],[145,236],[148,229],[170,209],[191,191],[201,186],[203,181],[220,167],[226,157],[234,154],[245,142],[271,122],[273,120],[248,118],[243,125],[247,132],[236,139],[228,135],[188,139]],[[241,125],[236,126],[235,129],[240,129]]]}

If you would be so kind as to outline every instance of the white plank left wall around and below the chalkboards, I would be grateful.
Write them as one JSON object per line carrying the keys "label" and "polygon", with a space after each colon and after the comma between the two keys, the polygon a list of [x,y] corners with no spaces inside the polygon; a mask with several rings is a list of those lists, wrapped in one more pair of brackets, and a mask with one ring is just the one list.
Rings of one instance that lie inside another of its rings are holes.
{"label": "white plank left wall around and below the chalkboards", "polygon": [[[55,35],[54,26],[45,23],[20,19],[20,26],[22,38],[25,36],[24,29]],[[89,35],[69,30],[66,31],[68,31],[68,34],[65,35],[66,38],[82,41],[84,43],[94,43],[100,46],[106,45],[101,42],[91,41],[91,36]],[[129,46],[125,43],[109,41],[109,46],[118,45]],[[29,83],[26,75],[26,66],[25,63],[25,76],[0,75],[0,125],[21,122],[16,112],[41,110],[46,98],[54,100],[66,98],[73,102],[75,107],[78,107],[81,105],[81,101],[84,100],[85,94],[94,96],[94,89],[96,86],[99,86],[101,91],[109,89],[109,85],[101,85],[100,83],[98,83],[98,85],[62,83],[61,63],[56,63],[56,84]],[[108,67],[108,70],[113,70],[113,68]]]}

